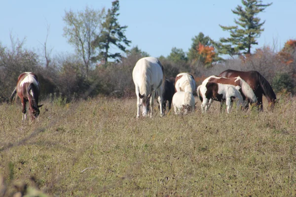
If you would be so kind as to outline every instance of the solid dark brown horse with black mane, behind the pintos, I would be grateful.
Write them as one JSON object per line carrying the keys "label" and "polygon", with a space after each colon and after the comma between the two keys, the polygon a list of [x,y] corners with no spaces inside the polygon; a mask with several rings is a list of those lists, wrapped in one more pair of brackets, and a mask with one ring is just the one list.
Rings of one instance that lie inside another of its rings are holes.
{"label": "solid dark brown horse with black mane, behind the pintos", "polygon": [[271,109],[274,108],[276,103],[276,95],[273,92],[269,82],[258,71],[238,71],[228,69],[221,72],[219,76],[227,78],[240,76],[250,85],[254,91],[257,97],[257,105],[261,111],[263,111],[262,95],[264,95],[268,100],[269,107]]}

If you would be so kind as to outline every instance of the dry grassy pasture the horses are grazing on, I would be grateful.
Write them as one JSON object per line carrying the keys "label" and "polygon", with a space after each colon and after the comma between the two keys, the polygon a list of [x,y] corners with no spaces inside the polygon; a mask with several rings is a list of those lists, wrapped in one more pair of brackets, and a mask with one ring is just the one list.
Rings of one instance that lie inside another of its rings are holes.
{"label": "dry grassy pasture the horses are grazing on", "polygon": [[195,100],[191,114],[160,117],[155,102],[139,119],[136,99],[41,100],[24,123],[19,102],[0,104],[0,194],[26,183],[49,196],[296,195],[295,99],[228,115]]}

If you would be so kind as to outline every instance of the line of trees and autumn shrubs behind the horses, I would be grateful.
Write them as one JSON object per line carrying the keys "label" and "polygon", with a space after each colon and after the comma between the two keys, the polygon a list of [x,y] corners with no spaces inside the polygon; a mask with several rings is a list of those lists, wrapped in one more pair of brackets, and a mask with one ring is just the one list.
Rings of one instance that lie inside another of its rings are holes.
{"label": "line of trees and autumn shrubs behind the horses", "polygon": [[[258,70],[270,82],[275,81],[278,90],[294,92],[296,67],[296,41],[288,40],[280,52],[265,46],[251,50],[258,45],[257,38],[264,31],[258,14],[272,3],[261,0],[242,0],[233,14],[235,26],[222,26],[230,33],[228,38],[214,41],[200,32],[192,38],[186,53],[183,49],[172,48],[167,56],[158,57],[166,76],[175,77],[180,72],[191,72],[197,83],[210,74],[219,74],[227,68]],[[65,11],[64,36],[74,47],[74,54],[51,55],[51,50],[43,45],[43,56],[24,47],[24,41],[11,38],[11,48],[0,45],[0,97],[6,99],[13,90],[18,75],[23,71],[36,72],[44,98],[58,94],[67,100],[85,95],[106,95],[131,97],[134,85],[131,79],[135,63],[149,56],[138,46],[130,46],[125,31],[128,26],[120,25],[119,0],[112,1],[106,10],[86,7],[83,11]],[[110,48],[119,52],[111,52]],[[223,59],[222,55],[231,58]]]}

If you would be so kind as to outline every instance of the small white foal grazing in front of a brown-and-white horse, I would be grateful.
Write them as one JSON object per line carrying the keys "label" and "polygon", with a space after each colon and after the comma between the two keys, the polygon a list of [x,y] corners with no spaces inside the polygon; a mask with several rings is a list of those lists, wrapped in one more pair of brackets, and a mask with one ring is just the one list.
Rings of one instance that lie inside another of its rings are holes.
{"label": "small white foal grazing in front of a brown-and-white horse", "polygon": [[175,114],[180,112],[193,112],[195,109],[195,99],[190,92],[176,92],[173,96],[173,106]]}

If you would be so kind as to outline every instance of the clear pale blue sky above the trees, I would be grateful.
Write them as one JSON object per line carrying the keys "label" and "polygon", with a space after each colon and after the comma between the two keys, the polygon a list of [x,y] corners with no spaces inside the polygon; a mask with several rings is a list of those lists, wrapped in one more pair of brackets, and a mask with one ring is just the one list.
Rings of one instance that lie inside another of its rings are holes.
{"label": "clear pale blue sky above the trees", "polygon": [[[296,39],[296,0],[263,0],[273,4],[259,13],[266,20],[259,45],[273,45],[277,40],[282,47],[288,39]],[[131,47],[138,47],[151,56],[167,56],[172,47],[188,51],[191,38],[199,32],[215,41],[228,37],[223,26],[234,25],[231,12],[241,0],[120,0],[120,25],[127,25],[126,36]],[[10,33],[14,38],[26,38],[25,46],[37,53],[42,48],[50,25],[47,46],[52,54],[74,52],[63,37],[62,18],[65,10],[82,11],[88,5],[95,9],[110,8],[111,0],[2,0],[0,6],[0,42],[10,46]],[[131,48],[128,47],[128,48]]]}

